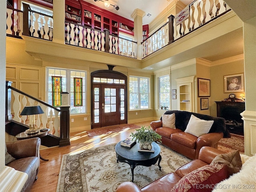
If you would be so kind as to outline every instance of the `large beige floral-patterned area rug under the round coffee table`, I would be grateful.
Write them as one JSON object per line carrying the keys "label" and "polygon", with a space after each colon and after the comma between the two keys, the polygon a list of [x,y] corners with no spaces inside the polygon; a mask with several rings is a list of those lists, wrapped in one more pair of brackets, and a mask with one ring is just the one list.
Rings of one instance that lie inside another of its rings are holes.
{"label": "large beige floral-patterned area rug under the round coffee table", "polygon": [[[131,181],[130,166],[116,161],[115,145],[63,155],[56,192],[115,192],[122,182]],[[161,170],[158,163],[134,169],[134,183],[139,187],[191,161],[162,144],[159,146]]]}

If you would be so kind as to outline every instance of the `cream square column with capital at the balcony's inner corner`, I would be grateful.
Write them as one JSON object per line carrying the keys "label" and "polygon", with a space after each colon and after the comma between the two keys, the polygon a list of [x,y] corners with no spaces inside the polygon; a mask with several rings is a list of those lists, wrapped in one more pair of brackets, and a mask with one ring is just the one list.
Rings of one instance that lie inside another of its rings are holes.
{"label": "cream square column with capital at the balcony's inner corner", "polygon": [[145,12],[140,9],[135,9],[131,17],[134,19],[134,41],[137,42],[137,49],[135,50],[137,59],[142,59],[142,18],[145,15]]}

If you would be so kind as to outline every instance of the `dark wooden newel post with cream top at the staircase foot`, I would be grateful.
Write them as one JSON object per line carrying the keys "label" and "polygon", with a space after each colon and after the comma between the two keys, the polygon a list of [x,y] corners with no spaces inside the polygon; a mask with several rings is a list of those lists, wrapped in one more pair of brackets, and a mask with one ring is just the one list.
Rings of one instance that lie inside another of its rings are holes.
{"label": "dark wooden newel post with cream top at the staircase foot", "polygon": [[62,105],[60,106],[60,143],[59,146],[70,145],[70,106],[68,92],[61,93]]}

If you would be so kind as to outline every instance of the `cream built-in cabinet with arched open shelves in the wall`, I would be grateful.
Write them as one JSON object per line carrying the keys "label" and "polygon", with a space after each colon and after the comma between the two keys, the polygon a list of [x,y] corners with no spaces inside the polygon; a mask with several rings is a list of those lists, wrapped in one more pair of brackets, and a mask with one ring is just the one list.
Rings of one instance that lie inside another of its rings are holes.
{"label": "cream built-in cabinet with arched open shelves in the wall", "polygon": [[176,79],[178,110],[194,112],[194,77]]}

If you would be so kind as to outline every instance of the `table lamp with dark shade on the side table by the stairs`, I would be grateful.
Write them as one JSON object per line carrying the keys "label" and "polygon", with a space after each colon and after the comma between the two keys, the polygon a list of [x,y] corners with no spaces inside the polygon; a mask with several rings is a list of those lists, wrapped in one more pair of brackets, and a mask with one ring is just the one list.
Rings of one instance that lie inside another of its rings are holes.
{"label": "table lamp with dark shade on the side table by the stairs", "polygon": [[[41,106],[25,106],[20,115],[29,115],[29,129],[26,130],[28,134],[36,134],[38,130],[35,129],[35,115],[36,114],[43,114],[44,111],[42,110]],[[33,117],[32,117],[33,115]]]}

